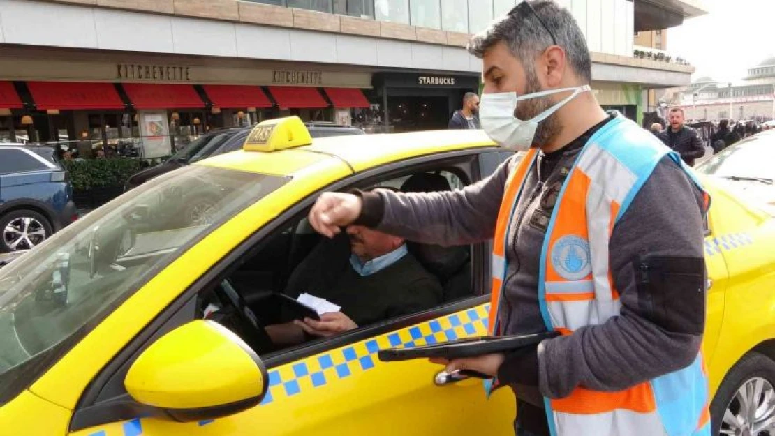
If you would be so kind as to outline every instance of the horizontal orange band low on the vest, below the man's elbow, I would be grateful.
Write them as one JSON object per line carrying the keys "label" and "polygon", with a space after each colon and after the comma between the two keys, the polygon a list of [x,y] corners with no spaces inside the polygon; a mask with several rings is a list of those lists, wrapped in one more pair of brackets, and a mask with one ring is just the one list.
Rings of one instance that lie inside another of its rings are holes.
{"label": "horizontal orange band low on the vest, below the man's elbow", "polygon": [[576,388],[570,396],[551,400],[556,412],[568,414],[603,414],[616,409],[646,414],[656,410],[656,400],[649,383],[641,383],[619,392],[598,392]]}

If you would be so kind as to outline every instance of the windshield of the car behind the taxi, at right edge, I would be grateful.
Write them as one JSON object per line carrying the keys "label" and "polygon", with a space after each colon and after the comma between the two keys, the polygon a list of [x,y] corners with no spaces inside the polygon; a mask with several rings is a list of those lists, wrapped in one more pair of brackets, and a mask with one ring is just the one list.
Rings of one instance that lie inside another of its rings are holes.
{"label": "windshield of the car behind the taxi, at right edge", "polygon": [[775,134],[744,139],[697,167],[729,191],[775,214]]}

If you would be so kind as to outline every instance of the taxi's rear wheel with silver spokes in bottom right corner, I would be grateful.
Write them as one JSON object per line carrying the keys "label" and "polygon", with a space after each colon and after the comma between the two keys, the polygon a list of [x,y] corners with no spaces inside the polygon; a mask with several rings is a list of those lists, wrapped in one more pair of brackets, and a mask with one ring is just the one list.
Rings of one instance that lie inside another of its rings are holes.
{"label": "taxi's rear wheel with silver spokes in bottom right corner", "polygon": [[775,362],[757,352],[732,367],[718,388],[712,434],[775,436]]}

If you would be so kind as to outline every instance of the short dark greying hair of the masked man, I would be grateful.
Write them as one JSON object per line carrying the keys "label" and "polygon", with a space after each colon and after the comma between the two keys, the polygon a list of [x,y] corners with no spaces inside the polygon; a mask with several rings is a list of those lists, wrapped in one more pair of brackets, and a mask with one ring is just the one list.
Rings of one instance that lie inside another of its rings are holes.
{"label": "short dark greying hair of the masked man", "polygon": [[552,0],[532,0],[529,5],[535,13],[524,7],[512,9],[472,37],[468,51],[481,59],[487,50],[503,41],[527,69],[532,68],[540,53],[556,43],[565,50],[570,67],[580,80],[591,84],[592,60],[587,39],[574,16]]}

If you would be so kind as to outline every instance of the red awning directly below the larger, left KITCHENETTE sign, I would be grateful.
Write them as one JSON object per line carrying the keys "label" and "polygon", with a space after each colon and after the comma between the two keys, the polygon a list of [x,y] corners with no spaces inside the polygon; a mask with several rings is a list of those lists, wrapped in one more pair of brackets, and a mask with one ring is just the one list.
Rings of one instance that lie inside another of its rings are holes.
{"label": "red awning directly below the larger, left KITCHENETTE sign", "polygon": [[204,108],[190,84],[123,84],[136,109]]}

